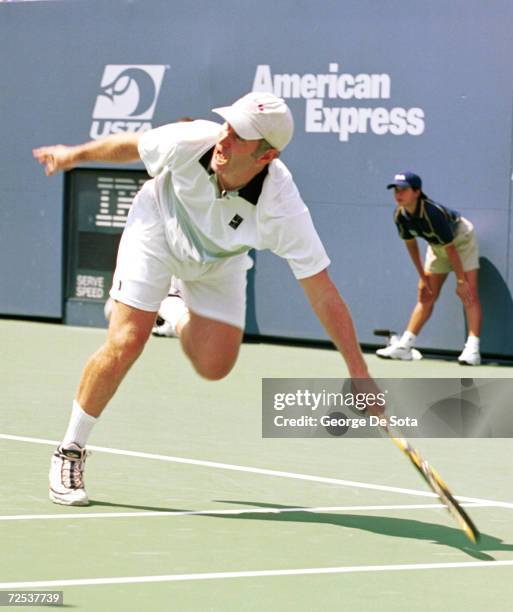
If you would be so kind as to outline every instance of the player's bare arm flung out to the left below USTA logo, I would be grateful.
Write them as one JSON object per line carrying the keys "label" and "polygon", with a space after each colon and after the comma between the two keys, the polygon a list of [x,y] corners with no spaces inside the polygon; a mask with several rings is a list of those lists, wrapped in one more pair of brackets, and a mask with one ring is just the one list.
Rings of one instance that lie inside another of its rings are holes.
{"label": "player's bare arm flung out to the left below USTA logo", "polygon": [[52,145],[32,150],[34,158],[45,168],[45,174],[70,170],[82,162],[128,163],[140,159],[139,133],[123,132],[81,145]]}

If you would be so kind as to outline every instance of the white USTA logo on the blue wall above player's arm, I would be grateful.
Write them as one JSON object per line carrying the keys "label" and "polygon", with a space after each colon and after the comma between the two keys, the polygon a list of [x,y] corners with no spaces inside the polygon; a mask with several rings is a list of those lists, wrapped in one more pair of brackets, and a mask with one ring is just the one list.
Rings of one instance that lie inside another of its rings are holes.
{"label": "white USTA logo on the blue wall above player's arm", "polygon": [[116,132],[151,129],[164,74],[169,66],[109,64],[93,110],[93,139]]}

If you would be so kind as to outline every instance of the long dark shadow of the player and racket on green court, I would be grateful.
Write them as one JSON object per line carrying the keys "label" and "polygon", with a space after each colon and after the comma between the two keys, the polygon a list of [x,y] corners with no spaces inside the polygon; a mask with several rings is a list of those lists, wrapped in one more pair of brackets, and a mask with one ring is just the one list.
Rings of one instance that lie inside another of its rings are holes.
{"label": "long dark shadow of the player and racket on green court", "polygon": [[[429,540],[442,546],[457,548],[467,555],[480,561],[495,561],[496,559],[485,551],[511,552],[513,544],[506,544],[495,536],[481,533],[479,543],[474,545],[468,542],[460,529],[427,523],[415,519],[391,518],[384,516],[366,516],[362,514],[333,514],[328,512],[312,512],[308,508],[289,512],[291,506],[280,506],[278,504],[264,504],[251,501],[239,500],[214,500],[219,503],[237,504],[243,506],[254,506],[257,508],[269,508],[269,510],[285,510],[279,513],[245,512],[244,514],[219,514],[215,511],[192,515],[191,518],[219,518],[227,520],[252,520],[252,521],[283,521],[285,523],[317,523],[319,525],[335,525],[336,527],[348,527],[349,529],[361,529],[379,535],[395,538],[410,538],[413,540]],[[111,502],[93,501],[91,506],[104,506],[110,508],[130,508],[133,510],[146,510],[148,512],[193,512],[183,508],[159,508],[154,506],[139,506],[134,504],[116,504]],[[241,508],[242,509],[242,508]],[[244,508],[246,509],[246,508]]]}

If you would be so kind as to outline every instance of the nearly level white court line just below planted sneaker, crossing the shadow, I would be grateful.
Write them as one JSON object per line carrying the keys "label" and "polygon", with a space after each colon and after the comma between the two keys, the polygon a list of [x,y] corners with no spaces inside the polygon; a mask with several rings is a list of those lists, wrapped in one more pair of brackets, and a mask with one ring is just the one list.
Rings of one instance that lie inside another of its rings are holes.
{"label": "nearly level white court line just below planted sneaker, crossing the shadow", "polygon": [[[492,504],[462,504],[469,508],[489,508]],[[402,506],[321,506],[318,508],[229,508],[211,510],[161,510],[145,512],[72,512],[70,514],[10,514],[0,516],[0,521],[46,521],[46,520],[75,520],[95,518],[147,518],[155,516],[230,516],[238,514],[285,514],[287,512],[310,512],[322,514],[327,512],[359,512],[376,510],[424,510],[446,507],[444,504],[406,504]]]}

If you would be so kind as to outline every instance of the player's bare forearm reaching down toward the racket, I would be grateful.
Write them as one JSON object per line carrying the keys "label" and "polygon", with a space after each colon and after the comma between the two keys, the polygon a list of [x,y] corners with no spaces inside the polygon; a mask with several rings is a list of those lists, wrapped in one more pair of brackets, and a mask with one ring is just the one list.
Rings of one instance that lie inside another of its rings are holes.
{"label": "player's bare forearm reaching down toward the racket", "polygon": [[330,279],[328,271],[323,270],[299,282],[313,311],[342,354],[351,378],[370,378],[349,308]]}

